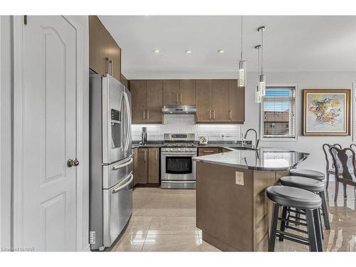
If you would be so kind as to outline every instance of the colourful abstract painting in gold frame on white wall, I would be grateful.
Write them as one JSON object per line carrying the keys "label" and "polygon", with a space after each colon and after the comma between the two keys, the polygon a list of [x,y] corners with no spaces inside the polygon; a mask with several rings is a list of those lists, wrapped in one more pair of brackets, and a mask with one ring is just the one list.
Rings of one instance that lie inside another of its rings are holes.
{"label": "colourful abstract painting in gold frame on white wall", "polygon": [[349,135],[350,90],[303,90],[304,135]]}

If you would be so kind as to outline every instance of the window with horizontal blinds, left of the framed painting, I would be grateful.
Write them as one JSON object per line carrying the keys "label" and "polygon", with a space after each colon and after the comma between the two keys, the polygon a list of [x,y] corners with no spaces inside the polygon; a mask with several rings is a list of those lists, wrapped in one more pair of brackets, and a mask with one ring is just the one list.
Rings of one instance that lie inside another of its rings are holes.
{"label": "window with horizontal blinds, left of the framed painting", "polygon": [[264,140],[295,140],[295,87],[266,87],[262,103]]}

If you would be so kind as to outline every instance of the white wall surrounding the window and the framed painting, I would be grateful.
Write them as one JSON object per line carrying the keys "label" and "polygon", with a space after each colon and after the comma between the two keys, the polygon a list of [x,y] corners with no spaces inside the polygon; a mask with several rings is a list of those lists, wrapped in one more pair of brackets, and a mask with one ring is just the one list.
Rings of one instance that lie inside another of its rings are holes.
{"label": "white wall surrounding the window and the framed painting", "polygon": [[[255,103],[255,86],[257,73],[248,73],[246,88],[246,122],[241,126],[241,132],[249,127],[260,129],[260,109]],[[325,158],[322,149],[324,143],[339,143],[342,147],[348,147],[352,142],[352,129],[350,136],[303,136],[303,89],[352,89],[352,83],[356,83],[356,73],[266,73],[267,85],[269,84],[298,84],[298,141],[297,142],[261,142],[262,147],[278,147],[301,152],[308,152],[310,156],[300,167],[315,169],[325,172]],[[352,117],[351,119],[355,120]]]}

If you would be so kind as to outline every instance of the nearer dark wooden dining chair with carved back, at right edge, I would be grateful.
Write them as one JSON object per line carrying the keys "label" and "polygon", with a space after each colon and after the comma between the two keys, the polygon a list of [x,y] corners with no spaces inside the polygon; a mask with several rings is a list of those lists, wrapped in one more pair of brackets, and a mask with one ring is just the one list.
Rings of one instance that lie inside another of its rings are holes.
{"label": "nearer dark wooden dining chair with carved back, at right edge", "polygon": [[339,183],[344,187],[344,198],[347,198],[347,184],[356,187],[356,155],[351,148],[339,149],[338,147],[330,147],[330,154],[333,157],[335,167],[335,197],[339,192]]}

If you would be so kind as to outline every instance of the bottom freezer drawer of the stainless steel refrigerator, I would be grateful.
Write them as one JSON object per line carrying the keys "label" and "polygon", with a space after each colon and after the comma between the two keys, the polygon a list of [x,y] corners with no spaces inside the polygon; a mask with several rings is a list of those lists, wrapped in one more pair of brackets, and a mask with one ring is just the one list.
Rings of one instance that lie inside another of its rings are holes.
{"label": "bottom freezer drawer of the stainless steel refrigerator", "polygon": [[111,246],[132,214],[133,175],[103,189],[103,245]]}

